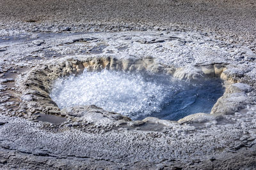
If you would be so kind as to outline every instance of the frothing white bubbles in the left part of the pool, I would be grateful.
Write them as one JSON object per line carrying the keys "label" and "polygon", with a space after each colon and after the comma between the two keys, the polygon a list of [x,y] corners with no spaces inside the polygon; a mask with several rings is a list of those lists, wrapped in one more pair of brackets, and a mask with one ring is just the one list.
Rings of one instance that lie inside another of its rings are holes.
{"label": "frothing white bubbles in the left part of the pool", "polygon": [[159,79],[136,73],[85,70],[79,76],[57,80],[51,98],[60,108],[94,104],[136,119],[161,111],[166,96],[180,88],[170,85],[170,80],[164,82],[164,79],[166,77]]}

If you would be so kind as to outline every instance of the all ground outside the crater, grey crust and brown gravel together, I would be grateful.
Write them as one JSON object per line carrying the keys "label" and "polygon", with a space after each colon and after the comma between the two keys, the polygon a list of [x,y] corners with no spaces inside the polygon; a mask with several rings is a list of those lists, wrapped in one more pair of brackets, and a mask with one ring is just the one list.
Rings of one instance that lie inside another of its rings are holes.
{"label": "all ground outside the crater, grey crust and brown gravel together", "polygon": [[[256,168],[254,1],[0,4],[1,169]],[[234,84],[212,110],[216,117],[200,113],[168,124],[151,118],[144,124],[97,125],[78,121],[84,108],[76,108],[61,113],[61,120],[38,120],[46,112],[39,113],[35,99],[24,94],[27,78],[87,57],[153,58],[181,69],[178,77],[197,73],[195,67],[211,74],[220,64],[226,69],[222,78]]]}

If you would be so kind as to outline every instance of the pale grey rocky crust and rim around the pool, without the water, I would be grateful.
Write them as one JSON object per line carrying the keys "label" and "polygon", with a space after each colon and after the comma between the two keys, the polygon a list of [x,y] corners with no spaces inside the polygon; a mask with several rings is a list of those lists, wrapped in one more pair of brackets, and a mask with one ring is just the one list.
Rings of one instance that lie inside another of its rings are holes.
{"label": "pale grey rocky crust and rim around the pool, without the water", "polygon": [[[255,53],[217,35],[2,29],[1,168],[255,169]],[[78,74],[83,67],[143,71],[145,66],[188,80],[220,76],[227,80],[227,90],[214,114],[179,122],[131,122],[93,106],[61,111],[49,98],[52,80]],[[40,122],[39,113],[67,121]],[[103,123],[95,122],[99,118]]]}

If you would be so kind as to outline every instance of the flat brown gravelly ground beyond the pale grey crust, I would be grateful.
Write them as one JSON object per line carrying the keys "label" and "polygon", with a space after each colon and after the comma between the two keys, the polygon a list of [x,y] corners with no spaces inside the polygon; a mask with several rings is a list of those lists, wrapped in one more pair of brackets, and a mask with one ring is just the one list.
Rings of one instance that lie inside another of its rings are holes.
{"label": "flat brown gravelly ground beyond the pale grey crust", "polygon": [[181,0],[181,1],[31,1],[1,0],[1,20],[30,22],[139,22],[170,23],[255,32],[255,1]]}

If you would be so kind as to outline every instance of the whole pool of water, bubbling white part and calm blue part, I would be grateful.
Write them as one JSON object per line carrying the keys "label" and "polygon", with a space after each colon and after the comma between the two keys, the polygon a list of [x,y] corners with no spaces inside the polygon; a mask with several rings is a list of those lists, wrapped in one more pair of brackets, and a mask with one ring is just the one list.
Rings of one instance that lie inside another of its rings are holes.
{"label": "whole pool of water, bubbling white part and calm blue part", "polygon": [[84,70],[79,76],[58,79],[50,96],[61,109],[96,105],[132,120],[179,120],[193,113],[210,113],[223,92],[219,79],[189,83],[167,75]]}

